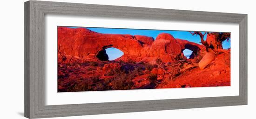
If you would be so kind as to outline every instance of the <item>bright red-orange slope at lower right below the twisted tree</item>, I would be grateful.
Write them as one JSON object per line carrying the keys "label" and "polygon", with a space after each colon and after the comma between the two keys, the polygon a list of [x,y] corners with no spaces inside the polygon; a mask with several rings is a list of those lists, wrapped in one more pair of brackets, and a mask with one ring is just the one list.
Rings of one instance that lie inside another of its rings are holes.
{"label": "bright red-orange slope at lower right below the twisted tree", "polygon": [[184,71],[174,81],[160,84],[157,88],[230,86],[230,52],[218,54],[207,67]]}

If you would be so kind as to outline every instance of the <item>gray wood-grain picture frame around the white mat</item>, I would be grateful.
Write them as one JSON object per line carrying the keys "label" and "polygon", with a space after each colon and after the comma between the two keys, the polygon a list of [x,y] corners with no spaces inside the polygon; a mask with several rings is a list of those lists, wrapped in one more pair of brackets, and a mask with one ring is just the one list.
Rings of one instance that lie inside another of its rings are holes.
{"label": "gray wood-grain picture frame around the white mat", "polygon": [[[239,96],[45,105],[45,15],[159,19],[239,24]],[[247,14],[213,13],[49,1],[25,2],[25,117],[47,118],[107,113],[247,105]]]}

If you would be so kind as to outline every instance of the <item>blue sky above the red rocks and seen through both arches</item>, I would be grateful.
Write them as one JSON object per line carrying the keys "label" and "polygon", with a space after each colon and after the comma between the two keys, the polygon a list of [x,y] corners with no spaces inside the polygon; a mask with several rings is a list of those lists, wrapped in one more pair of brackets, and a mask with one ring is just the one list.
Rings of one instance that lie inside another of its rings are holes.
{"label": "blue sky above the red rocks and seen through both arches", "polygon": [[[71,27],[71,28],[77,28],[77,27]],[[189,40],[191,42],[195,42],[197,44],[201,44],[200,42],[200,37],[197,36],[192,36],[191,33],[188,31],[170,31],[170,30],[144,30],[144,29],[119,29],[119,28],[94,28],[94,27],[84,27],[87,28],[91,31],[99,32],[99,33],[109,33],[109,34],[130,34],[130,35],[144,35],[148,37],[153,37],[154,39],[160,34],[160,33],[169,33],[171,34],[174,38],[180,38],[180,39],[185,39]],[[204,36],[204,40],[206,39],[206,35]],[[228,49],[230,48],[230,41],[224,41],[223,44],[223,49]],[[120,56],[123,55],[123,52],[116,49],[116,48],[108,48],[106,49],[109,60],[114,60]],[[189,54],[192,53],[191,50],[184,50],[183,51],[185,56],[189,56]]]}

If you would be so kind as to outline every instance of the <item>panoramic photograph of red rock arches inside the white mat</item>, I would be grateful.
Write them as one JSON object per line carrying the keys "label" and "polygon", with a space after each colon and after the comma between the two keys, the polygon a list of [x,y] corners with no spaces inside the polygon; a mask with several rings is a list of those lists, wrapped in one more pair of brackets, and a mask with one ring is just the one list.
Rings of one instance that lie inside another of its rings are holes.
{"label": "panoramic photograph of red rock arches inside the white mat", "polygon": [[230,86],[230,35],[58,26],[58,92]]}

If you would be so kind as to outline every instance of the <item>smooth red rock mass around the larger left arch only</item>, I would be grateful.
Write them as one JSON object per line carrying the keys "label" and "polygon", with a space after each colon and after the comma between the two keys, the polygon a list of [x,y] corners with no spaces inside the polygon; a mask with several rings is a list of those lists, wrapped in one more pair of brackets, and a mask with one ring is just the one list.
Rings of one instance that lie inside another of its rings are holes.
{"label": "smooth red rock mass around the larger left arch only", "polygon": [[85,28],[58,27],[58,52],[82,61],[97,60],[97,54],[109,47],[124,52],[127,58],[141,55],[142,44],[132,35],[101,34]]}

